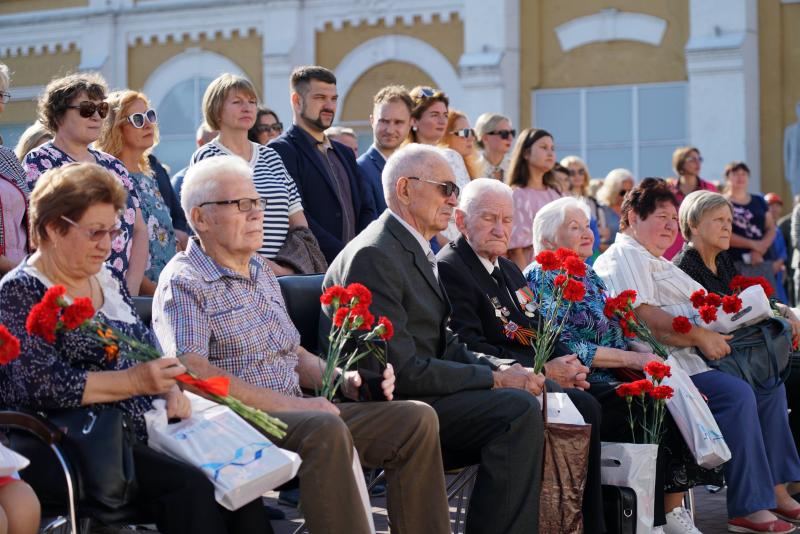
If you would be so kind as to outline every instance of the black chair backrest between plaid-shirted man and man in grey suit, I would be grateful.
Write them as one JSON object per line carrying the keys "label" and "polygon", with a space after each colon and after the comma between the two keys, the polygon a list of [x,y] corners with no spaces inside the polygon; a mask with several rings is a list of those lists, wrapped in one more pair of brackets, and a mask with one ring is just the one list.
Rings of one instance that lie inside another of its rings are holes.
{"label": "black chair backrest between plaid-shirted man and man in grey suit", "polygon": [[289,317],[300,332],[300,344],[311,353],[316,353],[319,347],[319,297],[323,278],[322,274],[278,277]]}

